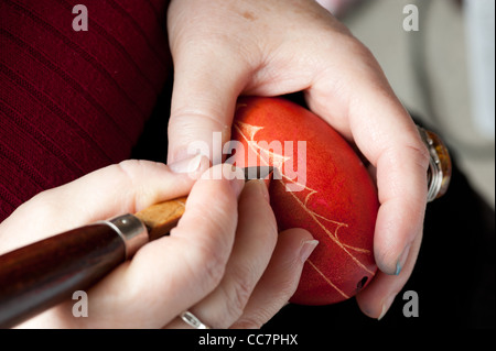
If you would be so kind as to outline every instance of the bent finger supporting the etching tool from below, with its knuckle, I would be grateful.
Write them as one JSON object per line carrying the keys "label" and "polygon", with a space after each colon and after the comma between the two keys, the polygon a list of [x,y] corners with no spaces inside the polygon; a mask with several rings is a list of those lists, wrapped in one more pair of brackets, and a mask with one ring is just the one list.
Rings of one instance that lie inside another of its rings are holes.
{"label": "bent finger supporting the etching tool from below, with its knuckle", "polygon": [[75,320],[72,304],[65,304],[34,318],[34,326],[56,315],[78,327],[160,328],[211,293],[230,254],[237,196],[244,186],[240,169],[228,180],[224,175],[231,174],[231,167],[218,167],[222,179],[202,177],[195,183],[170,237],[148,243],[89,289],[88,317]]}

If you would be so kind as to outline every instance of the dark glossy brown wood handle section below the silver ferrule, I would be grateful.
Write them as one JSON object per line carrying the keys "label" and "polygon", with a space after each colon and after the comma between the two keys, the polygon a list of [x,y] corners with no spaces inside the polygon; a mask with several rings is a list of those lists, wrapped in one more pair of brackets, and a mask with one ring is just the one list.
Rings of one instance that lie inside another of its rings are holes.
{"label": "dark glossy brown wood handle section below the silver ferrule", "polygon": [[71,299],[126,260],[122,239],[96,223],[0,256],[0,328]]}

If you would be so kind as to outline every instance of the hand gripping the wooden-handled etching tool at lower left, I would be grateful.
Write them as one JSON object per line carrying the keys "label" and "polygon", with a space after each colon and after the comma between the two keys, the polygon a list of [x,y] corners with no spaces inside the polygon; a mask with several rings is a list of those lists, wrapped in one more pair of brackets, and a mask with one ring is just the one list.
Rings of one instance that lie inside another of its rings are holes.
{"label": "hand gripping the wooden-handled etching tool at lower left", "polygon": [[[188,174],[171,172],[193,164]],[[127,161],[41,193],[18,208],[0,224],[1,253],[191,190],[171,235],[145,244],[87,292],[88,317],[74,317],[75,301],[69,300],[20,327],[187,328],[176,317],[186,309],[215,328],[268,321],[295,290],[315,242],[299,229],[278,235],[261,180],[245,185],[236,178],[208,179],[204,173],[195,183],[202,164]],[[224,167],[225,174],[233,172]]]}

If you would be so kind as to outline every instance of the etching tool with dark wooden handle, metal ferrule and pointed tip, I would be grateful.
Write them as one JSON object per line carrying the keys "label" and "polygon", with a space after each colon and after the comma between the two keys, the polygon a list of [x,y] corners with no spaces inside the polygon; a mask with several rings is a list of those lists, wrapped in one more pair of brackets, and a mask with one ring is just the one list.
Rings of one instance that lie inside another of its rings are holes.
{"label": "etching tool with dark wooden handle, metal ferrule and pointed tip", "polygon": [[[245,179],[266,178],[272,167],[247,167]],[[186,197],[136,215],[73,229],[0,256],[0,328],[10,328],[69,299],[165,235],[182,215]]]}

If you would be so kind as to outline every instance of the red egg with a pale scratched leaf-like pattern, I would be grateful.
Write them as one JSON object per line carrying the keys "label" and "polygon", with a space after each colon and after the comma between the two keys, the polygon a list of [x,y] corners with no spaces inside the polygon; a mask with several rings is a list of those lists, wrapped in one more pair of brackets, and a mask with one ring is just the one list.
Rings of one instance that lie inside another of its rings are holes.
{"label": "red egg with a pale scratched leaf-like pattern", "polygon": [[327,305],[353,297],[377,271],[377,190],[349,144],[321,118],[282,98],[240,98],[229,157],[239,167],[278,168],[270,202],[280,230],[319,240],[292,303]]}

